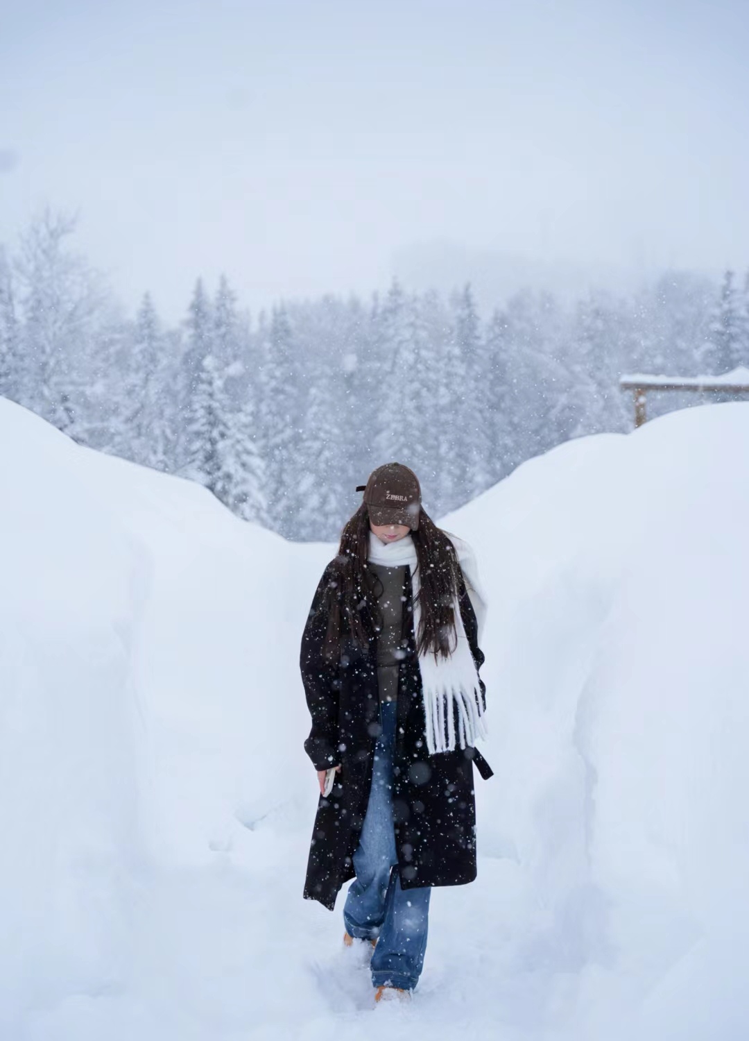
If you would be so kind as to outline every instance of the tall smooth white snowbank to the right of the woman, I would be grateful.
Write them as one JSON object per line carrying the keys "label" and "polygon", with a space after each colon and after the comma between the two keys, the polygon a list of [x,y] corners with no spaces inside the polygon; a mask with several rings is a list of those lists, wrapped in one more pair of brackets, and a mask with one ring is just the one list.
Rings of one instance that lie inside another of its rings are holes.
{"label": "tall smooth white snowbank to the right of the woman", "polygon": [[681,411],[445,523],[494,594],[485,818],[523,875],[516,955],[550,1033],[747,1036],[748,451],[746,405]]}

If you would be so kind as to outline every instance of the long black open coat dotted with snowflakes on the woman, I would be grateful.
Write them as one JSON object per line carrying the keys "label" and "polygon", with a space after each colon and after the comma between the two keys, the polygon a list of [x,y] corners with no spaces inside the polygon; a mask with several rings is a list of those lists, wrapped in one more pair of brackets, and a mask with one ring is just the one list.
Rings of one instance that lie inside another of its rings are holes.
{"label": "long black open coat dotted with snowflakes on the woman", "polygon": [[[341,764],[333,791],[328,798],[320,796],[317,806],[304,888],[305,898],[319,900],[331,911],[338,890],[354,878],[353,857],[366,813],[374,743],[381,730],[377,639],[361,650],[344,634],[340,661],[331,665],[322,656],[328,627],[322,603],[334,574],[331,562],[317,586],[301,653],[302,679],[312,716],[305,750],[315,769]],[[401,885],[404,889],[457,886],[472,882],[476,874],[473,766],[485,778],[492,771],[473,747],[429,754],[408,568],[405,596],[405,657],[399,664],[392,789]],[[460,609],[479,668],[484,655],[477,645],[475,613],[462,581]],[[481,689],[484,697],[483,682]]]}

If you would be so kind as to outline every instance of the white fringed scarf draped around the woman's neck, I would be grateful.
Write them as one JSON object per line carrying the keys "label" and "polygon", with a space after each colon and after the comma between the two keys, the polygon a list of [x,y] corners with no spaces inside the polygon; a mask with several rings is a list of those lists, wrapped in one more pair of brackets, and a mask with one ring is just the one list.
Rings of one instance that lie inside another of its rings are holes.
{"label": "white fringed scarf draped around the woman's neck", "polygon": [[[449,539],[458,554],[466,590],[476,614],[481,639],[486,615],[486,599],[479,582],[475,557],[470,547],[462,539],[456,538],[455,535],[450,535]],[[421,618],[418,599],[420,583],[416,547],[410,533],[396,542],[381,542],[377,535],[370,532],[369,560],[376,564],[384,564],[386,567],[408,565],[411,572],[413,591],[414,633],[418,636]],[[453,607],[458,634],[458,645],[453,654],[449,658],[440,656],[436,660],[432,652],[418,656],[424,715],[427,717],[427,747],[430,755],[435,755],[438,752],[454,752],[456,744],[459,744],[461,748],[465,748],[466,745],[475,745],[476,738],[487,736],[479,674],[465,633],[457,598]],[[456,722],[458,725],[457,733]]]}

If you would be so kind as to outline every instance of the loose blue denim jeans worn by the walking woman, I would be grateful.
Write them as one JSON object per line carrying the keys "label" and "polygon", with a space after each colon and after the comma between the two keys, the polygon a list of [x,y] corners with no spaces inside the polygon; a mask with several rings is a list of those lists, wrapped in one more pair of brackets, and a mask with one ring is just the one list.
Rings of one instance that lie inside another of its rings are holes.
{"label": "loose blue denim jeans worn by the walking woman", "polygon": [[372,781],[359,845],[356,879],[348,887],[343,922],[350,936],[377,939],[371,959],[374,987],[413,990],[427,947],[429,886],[401,888],[392,817],[392,763],[397,705],[380,707],[382,733],[374,746]]}

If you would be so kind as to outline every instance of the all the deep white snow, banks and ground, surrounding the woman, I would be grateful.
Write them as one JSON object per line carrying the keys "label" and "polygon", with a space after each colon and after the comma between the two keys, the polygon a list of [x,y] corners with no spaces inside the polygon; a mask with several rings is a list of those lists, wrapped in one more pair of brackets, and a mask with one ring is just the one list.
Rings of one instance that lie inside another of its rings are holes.
{"label": "all the deep white snow, banks and ground, surrounding the woman", "polygon": [[[0,1037],[744,1039],[749,406],[564,445],[444,520],[490,596],[480,877],[372,1011],[302,900],[331,548],[0,400]],[[366,475],[355,475],[363,480]]]}

